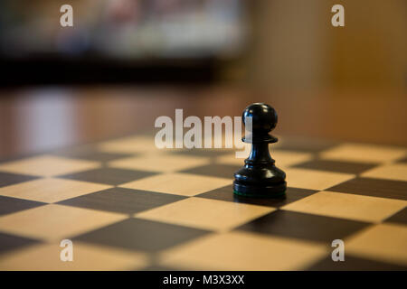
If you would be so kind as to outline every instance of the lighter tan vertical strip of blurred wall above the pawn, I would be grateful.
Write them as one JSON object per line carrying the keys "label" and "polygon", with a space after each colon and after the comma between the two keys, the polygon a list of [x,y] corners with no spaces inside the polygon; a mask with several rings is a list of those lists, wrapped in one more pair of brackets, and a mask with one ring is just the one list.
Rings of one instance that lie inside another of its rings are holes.
{"label": "lighter tan vertical strip of blurred wall above the pawn", "polygon": [[323,84],[327,75],[323,2],[271,0],[252,7],[253,84],[274,89]]}

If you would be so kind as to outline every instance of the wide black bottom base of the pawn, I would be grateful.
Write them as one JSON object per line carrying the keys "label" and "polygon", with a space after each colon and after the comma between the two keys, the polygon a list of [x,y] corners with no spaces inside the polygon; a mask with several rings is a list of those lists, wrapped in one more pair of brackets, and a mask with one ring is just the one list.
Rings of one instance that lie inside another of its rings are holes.
{"label": "wide black bottom base of the pawn", "polygon": [[251,198],[281,198],[286,194],[287,182],[279,182],[268,186],[245,185],[233,182],[233,192]]}

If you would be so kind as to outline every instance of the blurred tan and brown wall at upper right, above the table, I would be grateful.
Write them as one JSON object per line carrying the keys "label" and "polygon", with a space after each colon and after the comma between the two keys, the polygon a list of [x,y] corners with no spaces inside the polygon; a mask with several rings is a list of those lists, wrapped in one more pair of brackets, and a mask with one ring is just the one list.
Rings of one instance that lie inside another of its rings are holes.
{"label": "blurred tan and brown wall at upper right, above the table", "polygon": [[[345,7],[345,27],[331,7]],[[251,77],[273,88],[407,87],[405,0],[260,0]]]}

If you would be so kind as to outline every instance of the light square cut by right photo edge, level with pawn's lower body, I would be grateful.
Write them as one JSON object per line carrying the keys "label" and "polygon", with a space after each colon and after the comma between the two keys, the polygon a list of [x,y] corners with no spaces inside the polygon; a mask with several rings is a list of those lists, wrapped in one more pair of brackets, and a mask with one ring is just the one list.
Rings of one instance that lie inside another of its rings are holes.
{"label": "light square cut by right photo edge, level with pawn's lower body", "polygon": [[385,164],[362,173],[365,178],[407,182],[407,163]]}

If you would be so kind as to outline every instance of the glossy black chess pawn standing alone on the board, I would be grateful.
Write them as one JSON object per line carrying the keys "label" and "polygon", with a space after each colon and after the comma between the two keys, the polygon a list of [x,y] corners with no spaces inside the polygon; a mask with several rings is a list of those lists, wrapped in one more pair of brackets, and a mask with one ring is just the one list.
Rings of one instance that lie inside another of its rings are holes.
{"label": "glossy black chess pawn standing alone on the board", "polygon": [[246,117],[251,117],[251,140],[245,135],[242,141],[251,143],[251,154],[234,173],[233,191],[245,197],[280,198],[287,189],[286,173],[274,165],[269,152],[269,144],[278,141],[269,135],[277,125],[277,113],[269,105],[253,103],[243,111],[245,125]]}

